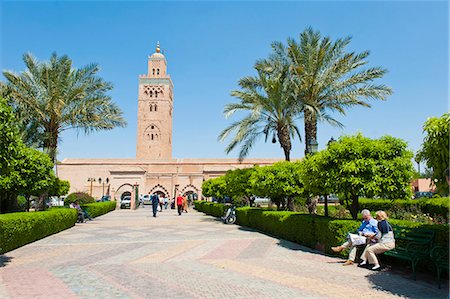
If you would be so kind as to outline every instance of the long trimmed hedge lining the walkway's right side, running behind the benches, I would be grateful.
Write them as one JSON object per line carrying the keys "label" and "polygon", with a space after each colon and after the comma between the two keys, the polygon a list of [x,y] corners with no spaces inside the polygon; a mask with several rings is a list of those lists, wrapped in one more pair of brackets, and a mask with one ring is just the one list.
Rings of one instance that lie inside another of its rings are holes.
{"label": "long trimmed hedge lining the walkway's right side, running behind the benches", "polygon": [[[222,207],[220,207],[222,206]],[[224,205],[196,202],[197,210],[213,216],[221,216]],[[210,213],[209,211],[213,211]],[[324,216],[287,211],[267,211],[258,208],[237,208],[237,223],[269,233],[279,238],[332,253],[331,246],[342,244],[348,232],[356,231],[360,220],[333,219]],[[406,227],[422,227],[436,231],[435,245],[448,248],[448,224],[422,224],[406,220],[390,220],[392,224]],[[344,254],[344,253],[343,253]]]}

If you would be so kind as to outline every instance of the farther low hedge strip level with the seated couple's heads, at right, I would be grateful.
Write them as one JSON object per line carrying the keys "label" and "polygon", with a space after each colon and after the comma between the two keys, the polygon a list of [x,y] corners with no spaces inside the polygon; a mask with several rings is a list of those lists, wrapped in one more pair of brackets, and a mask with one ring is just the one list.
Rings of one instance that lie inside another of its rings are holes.
{"label": "farther low hedge strip level with the seated couple's heads, at right", "polygon": [[370,211],[397,211],[399,209],[414,209],[419,208],[423,213],[432,216],[442,216],[446,219],[449,217],[449,203],[450,198],[427,198],[427,199],[396,199],[394,201],[389,199],[367,199],[360,198],[359,206],[361,209],[368,209]]}

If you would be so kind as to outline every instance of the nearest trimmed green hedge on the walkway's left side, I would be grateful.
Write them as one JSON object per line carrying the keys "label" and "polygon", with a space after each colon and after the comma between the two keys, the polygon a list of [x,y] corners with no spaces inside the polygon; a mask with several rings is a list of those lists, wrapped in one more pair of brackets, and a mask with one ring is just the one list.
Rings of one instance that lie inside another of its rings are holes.
{"label": "nearest trimmed green hedge on the walkway's left side", "polygon": [[74,209],[0,215],[0,253],[58,233],[74,226],[76,221]]}

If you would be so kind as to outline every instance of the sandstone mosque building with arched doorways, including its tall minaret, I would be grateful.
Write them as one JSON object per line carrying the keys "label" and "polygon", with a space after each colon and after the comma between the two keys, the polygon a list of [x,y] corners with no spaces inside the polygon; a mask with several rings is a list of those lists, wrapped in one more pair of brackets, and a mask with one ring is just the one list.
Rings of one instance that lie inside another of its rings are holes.
{"label": "sandstone mosque building with arched doorways, including its tall minaret", "polygon": [[147,74],[139,76],[136,159],[64,159],[58,177],[70,192],[94,198],[111,195],[176,194],[202,197],[202,183],[230,169],[271,165],[279,159],[177,159],[172,157],[173,82],[159,43],[148,57]]}

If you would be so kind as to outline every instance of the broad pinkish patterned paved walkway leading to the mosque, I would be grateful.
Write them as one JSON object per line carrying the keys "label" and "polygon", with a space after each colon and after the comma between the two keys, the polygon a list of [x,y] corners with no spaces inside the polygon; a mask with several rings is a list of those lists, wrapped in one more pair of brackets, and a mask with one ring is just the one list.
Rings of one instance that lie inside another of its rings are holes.
{"label": "broad pinkish patterned paved walkway leading to the mosque", "polygon": [[447,298],[203,213],[113,211],[0,257],[0,298]]}

